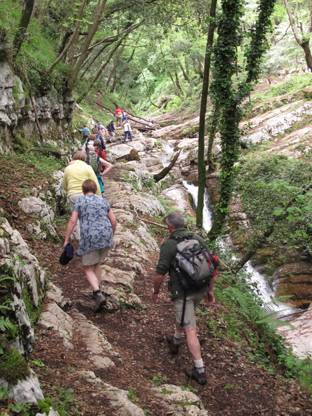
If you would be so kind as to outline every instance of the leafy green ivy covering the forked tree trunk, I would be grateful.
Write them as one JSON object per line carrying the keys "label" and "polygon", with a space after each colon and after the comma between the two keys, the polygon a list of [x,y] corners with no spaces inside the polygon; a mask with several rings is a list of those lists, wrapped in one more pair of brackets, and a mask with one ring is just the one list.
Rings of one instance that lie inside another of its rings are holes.
{"label": "leafy green ivy covering the forked tree trunk", "polygon": [[[220,162],[220,200],[209,236],[216,238],[225,220],[234,179],[234,164],[239,157],[239,122],[243,116],[241,103],[252,90],[252,82],[259,77],[260,63],[267,49],[266,33],[275,0],[259,0],[257,21],[245,34],[250,40],[245,47],[245,69],[237,64],[237,48],[244,39],[241,31],[242,0],[222,0],[222,14],[218,25],[218,40],[214,46],[215,72],[211,95],[220,108],[222,158]],[[234,75],[244,73],[241,83],[234,83]]]}

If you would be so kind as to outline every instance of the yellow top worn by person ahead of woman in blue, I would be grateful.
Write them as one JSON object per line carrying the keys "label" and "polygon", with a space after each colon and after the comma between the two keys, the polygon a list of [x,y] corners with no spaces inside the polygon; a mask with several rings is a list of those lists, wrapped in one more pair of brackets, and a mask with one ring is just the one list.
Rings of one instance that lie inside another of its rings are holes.
{"label": "yellow top worn by person ahead of woman in blue", "polygon": [[92,179],[96,183],[96,195],[101,196],[101,189],[98,185],[98,179],[91,166],[82,160],[74,160],[72,164],[67,166],[63,176],[63,188],[67,191],[67,196],[73,193],[82,193],[83,182]]}

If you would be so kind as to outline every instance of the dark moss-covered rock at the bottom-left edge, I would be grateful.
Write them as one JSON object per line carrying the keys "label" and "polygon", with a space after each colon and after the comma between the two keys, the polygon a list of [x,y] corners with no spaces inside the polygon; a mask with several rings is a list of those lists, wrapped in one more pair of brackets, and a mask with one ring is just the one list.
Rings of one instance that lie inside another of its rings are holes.
{"label": "dark moss-covered rock at the bottom-left edge", "polygon": [[30,371],[26,360],[16,349],[7,349],[0,358],[0,374],[9,384],[26,379]]}

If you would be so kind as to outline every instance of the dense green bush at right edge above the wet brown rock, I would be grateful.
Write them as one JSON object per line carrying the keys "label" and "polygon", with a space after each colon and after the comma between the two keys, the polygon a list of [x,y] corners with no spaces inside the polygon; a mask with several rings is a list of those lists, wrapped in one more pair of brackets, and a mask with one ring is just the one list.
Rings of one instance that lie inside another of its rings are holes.
{"label": "dense green bush at right edge above the wet brown rock", "polygon": [[[278,248],[287,243],[300,248],[303,258],[311,259],[312,191],[304,193],[311,185],[311,163],[284,155],[253,154],[241,162],[238,173],[236,191],[253,230],[246,245],[273,226],[270,245]],[[284,209],[286,215],[281,216]]]}

